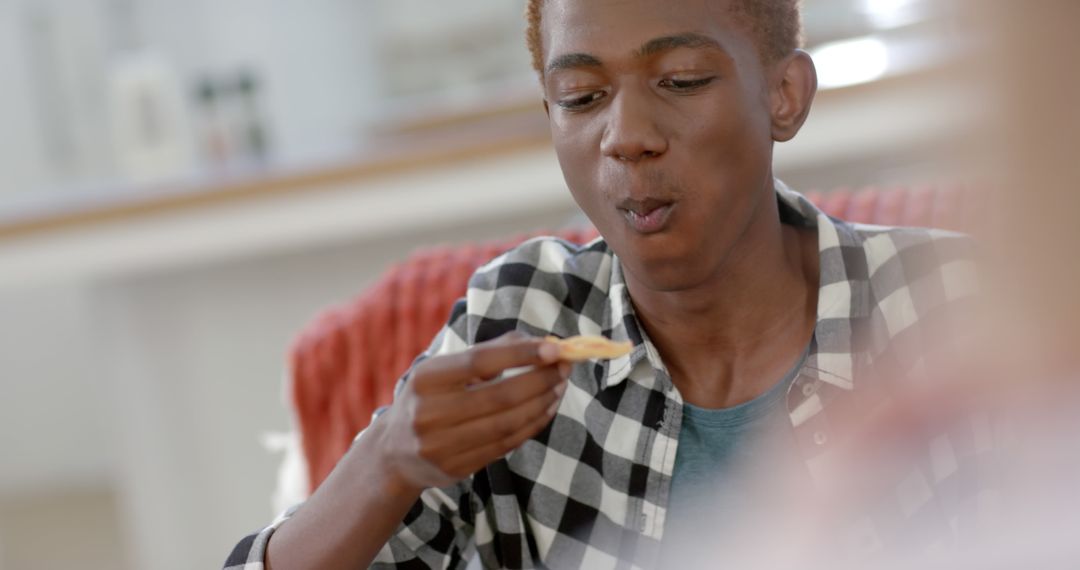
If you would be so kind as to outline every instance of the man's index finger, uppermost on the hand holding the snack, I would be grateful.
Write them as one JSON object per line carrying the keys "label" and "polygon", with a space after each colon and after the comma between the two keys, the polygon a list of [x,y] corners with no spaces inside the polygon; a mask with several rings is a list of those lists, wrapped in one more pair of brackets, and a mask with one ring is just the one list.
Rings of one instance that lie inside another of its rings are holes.
{"label": "man's index finger, uppermost on the hand holding the snack", "polygon": [[464,385],[490,380],[509,368],[543,366],[558,359],[558,348],[543,339],[511,332],[457,354],[438,356],[417,366],[414,379],[429,388]]}

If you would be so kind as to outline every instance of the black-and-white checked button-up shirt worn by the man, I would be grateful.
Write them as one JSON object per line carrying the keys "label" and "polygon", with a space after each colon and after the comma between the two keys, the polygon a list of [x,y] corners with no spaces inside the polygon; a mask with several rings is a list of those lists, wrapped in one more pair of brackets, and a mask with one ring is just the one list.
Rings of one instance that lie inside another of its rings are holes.
{"label": "black-and-white checked button-up shirt worn by the man", "polygon": [[[815,228],[820,246],[815,342],[786,395],[797,447],[818,476],[839,435],[831,417],[839,423],[840,415],[887,397],[874,378],[918,368],[924,329],[939,321],[931,315],[971,297],[971,242],[839,221],[780,182],[777,195],[784,221]],[[602,335],[630,340],[634,350],[576,366],[555,419],[539,435],[458,485],[424,491],[375,568],[463,568],[472,544],[489,568],[657,564],[684,402],[635,317],[607,244],[538,239],[487,263],[420,359],[515,329]],[[943,514],[942,502],[968,500],[958,490],[969,488],[968,458],[985,449],[983,440],[977,433],[932,439],[927,461],[897,473],[896,492],[841,541],[878,548],[906,521],[949,542],[958,520]],[[270,534],[294,511],[242,541],[227,568],[262,568]]]}

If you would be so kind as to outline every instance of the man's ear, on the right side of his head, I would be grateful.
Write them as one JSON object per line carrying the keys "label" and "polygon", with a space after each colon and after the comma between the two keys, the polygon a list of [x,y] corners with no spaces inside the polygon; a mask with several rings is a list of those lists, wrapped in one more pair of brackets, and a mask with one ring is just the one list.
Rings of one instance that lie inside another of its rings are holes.
{"label": "man's ear, on the right side of his head", "polygon": [[786,142],[798,134],[810,114],[818,93],[818,70],[810,54],[796,50],[775,64],[769,103],[772,111],[772,139]]}

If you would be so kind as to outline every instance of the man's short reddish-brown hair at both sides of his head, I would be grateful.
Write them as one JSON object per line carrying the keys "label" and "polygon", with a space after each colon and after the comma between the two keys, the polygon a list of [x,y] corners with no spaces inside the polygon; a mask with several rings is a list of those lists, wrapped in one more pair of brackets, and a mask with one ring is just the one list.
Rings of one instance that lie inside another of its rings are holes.
{"label": "man's short reddish-brown hair at both sides of his head", "polygon": [[[543,74],[540,50],[540,10],[544,0],[529,0],[525,40],[532,55],[532,68]],[[783,59],[802,45],[800,0],[730,0],[732,15],[754,35],[758,53],[766,64]]]}

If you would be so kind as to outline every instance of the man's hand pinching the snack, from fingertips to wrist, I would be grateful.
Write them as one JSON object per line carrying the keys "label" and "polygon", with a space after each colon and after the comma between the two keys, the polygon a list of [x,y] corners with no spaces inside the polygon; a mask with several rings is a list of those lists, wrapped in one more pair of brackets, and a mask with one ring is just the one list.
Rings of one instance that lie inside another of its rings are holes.
{"label": "man's hand pinching the snack, from fingertips to wrist", "polygon": [[513,451],[551,422],[569,372],[557,347],[521,332],[420,363],[383,418],[390,490],[444,487]]}

